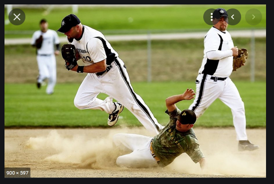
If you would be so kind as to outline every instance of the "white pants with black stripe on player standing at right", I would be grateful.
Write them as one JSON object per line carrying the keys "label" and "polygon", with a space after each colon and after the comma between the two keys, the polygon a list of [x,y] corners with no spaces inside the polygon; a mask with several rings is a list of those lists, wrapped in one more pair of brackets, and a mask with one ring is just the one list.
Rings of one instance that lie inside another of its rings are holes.
{"label": "white pants with black stripe on player standing at right", "polygon": [[[212,76],[207,75],[205,78],[203,76],[203,74],[199,74],[197,77],[196,96],[189,109],[192,109],[198,118],[219,98],[231,109],[237,140],[248,140],[245,105],[235,84],[229,77],[224,81],[217,80],[215,82],[210,79]],[[212,119],[212,121],[216,120]]]}

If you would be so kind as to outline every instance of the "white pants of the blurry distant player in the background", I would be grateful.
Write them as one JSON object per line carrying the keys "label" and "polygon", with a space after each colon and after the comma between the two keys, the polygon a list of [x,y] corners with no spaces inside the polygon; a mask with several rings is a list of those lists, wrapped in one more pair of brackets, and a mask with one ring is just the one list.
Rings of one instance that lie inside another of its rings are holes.
{"label": "white pants of the blurry distant player in the background", "polygon": [[54,54],[51,55],[37,55],[37,64],[39,70],[38,83],[47,81],[46,93],[51,94],[54,92],[56,85],[56,58]]}

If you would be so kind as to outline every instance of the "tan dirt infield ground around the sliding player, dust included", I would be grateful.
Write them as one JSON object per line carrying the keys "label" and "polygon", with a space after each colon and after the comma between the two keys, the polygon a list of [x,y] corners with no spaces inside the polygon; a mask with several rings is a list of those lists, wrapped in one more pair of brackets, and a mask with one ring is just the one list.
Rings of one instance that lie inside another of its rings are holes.
{"label": "tan dirt infield ground around the sliding player, dust included", "polygon": [[247,129],[260,146],[239,152],[234,128],[195,128],[208,168],[182,154],[169,166],[128,169],[115,164],[115,133],[149,135],[140,128],[4,130],[4,167],[30,168],[31,178],[266,178],[266,129]]}

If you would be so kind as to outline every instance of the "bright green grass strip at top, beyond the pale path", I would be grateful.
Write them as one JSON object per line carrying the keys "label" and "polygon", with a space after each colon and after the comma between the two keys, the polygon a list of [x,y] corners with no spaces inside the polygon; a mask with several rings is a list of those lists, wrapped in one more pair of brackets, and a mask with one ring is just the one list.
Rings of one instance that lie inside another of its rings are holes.
{"label": "bright green grass strip at top, beyond the pale path", "polygon": [[[77,16],[85,25],[89,25],[105,34],[132,34],[150,32],[181,32],[208,30],[211,26],[203,19],[204,12],[210,8],[235,8],[241,13],[241,21],[230,29],[266,29],[266,4],[198,4],[148,7],[79,7]],[[256,8],[262,13],[262,21],[258,25],[250,25],[245,20],[249,9]],[[4,25],[4,38],[31,37],[39,29],[39,21],[46,18],[49,28],[57,30],[61,20],[72,13],[72,8],[54,7],[51,11],[46,8],[21,8],[25,21],[21,25],[11,23]],[[8,19],[4,9],[4,19]],[[59,35],[63,35],[58,32]]]}

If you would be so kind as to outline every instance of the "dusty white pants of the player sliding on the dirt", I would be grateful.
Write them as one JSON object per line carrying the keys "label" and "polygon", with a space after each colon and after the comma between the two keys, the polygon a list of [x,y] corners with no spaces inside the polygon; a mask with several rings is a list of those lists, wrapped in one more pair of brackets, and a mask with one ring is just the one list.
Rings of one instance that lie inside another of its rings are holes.
{"label": "dusty white pants of the player sliding on the dirt", "polygon": [[127,168],[146,168],[158,166],[150,153],[152,137],[119,133],[113,136],[113,144],[122,151],[132,151],[130,154],[119,156],[116,164]]}

